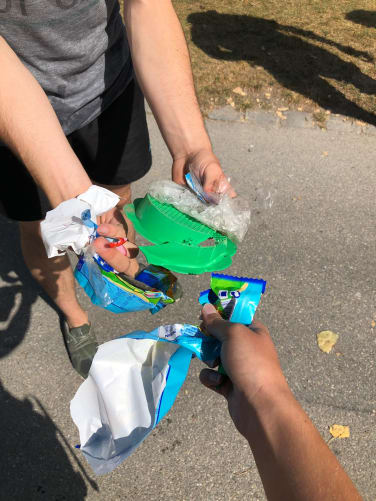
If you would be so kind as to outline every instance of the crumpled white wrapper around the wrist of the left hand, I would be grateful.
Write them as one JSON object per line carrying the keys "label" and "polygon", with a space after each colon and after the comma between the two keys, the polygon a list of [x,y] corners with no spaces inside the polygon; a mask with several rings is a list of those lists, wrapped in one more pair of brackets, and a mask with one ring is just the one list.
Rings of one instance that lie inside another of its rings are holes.
{"label": "crumpled white wrapper around the wrist of the left hand", "polygon": [[89,209],[91,218],[95,221],[97,216],[115,207],[119,200],[111,191],[93,185],[77,198],[66,200],[47,212],[41,223],[47,256],[60,256],[68,248],[80,254],[93,234],[93,228],[86,226],[81,220],[82,213]]}

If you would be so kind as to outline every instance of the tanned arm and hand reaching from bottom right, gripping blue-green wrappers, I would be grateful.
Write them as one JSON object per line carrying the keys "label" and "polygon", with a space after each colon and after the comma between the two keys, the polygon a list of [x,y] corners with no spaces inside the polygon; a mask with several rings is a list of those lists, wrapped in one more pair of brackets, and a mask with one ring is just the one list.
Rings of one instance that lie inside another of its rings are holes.
{"label": "tanned arm and hand reaching from bottom right, gripping blue-green wrappers", "polygon": [[204,369],[202,383],[223,395],[248,440],[269,501],[361,501],[354,484],[291,393],[269,332],[203,310],[208,332],[222,341],[228,374]]}

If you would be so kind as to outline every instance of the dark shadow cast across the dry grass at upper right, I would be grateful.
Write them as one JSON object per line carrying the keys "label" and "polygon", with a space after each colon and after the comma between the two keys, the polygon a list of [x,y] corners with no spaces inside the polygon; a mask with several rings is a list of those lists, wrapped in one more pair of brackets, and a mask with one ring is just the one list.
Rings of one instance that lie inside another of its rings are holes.
{"label": "dark shadow cast across the dry grass at upper right", "polygon": [[376,125],[374,114],[347,99],[327,79],[353,85],[369,95],[376,93],[376,81],[355,64],[300,37],[372,62],[368,52],[341,45],[312,31],[253,16],[206,11],[190,14],[187,19],[192,24],[192,41],[210,57],[262,66],[281,85],[323,108]]}

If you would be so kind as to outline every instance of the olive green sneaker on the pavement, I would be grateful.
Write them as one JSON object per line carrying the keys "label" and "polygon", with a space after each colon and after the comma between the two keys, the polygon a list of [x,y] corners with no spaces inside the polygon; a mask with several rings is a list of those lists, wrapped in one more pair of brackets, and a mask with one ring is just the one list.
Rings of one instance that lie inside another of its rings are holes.
{"label": "olive green sneaker on the pavement", "polygon": [[83,378],[87,378],[91,362],[98,349],[93,327],[91,324],[84,324],[69,329],[67,323],[65,323],[63,336],[73,368]]}

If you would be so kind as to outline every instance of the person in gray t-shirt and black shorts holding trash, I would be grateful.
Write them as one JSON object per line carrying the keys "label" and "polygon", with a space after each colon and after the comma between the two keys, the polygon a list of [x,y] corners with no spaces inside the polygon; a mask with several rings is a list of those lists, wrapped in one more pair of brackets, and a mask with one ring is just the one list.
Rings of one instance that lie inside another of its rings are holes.
{"label": "person in gray t-shirt and black shorts holding trash", "polygon": [[[0,163],[7,173],[1,201],[20,222],[31,273],[66,317],[71,360],[82,374],[87,371],[78,366],[92,357],[96,341],[68,259],[47,259],[36,185],[52,207],[92,182],[117,193],[119,208],[128,203],[130,183],[151,163],[143,93],[171,153],[172,179],[184,184],[191,165],[206,191],[228,186],[198,108],[171,1],[128,0],[124,20],[125,29],[117,0],[7,0],[0,7],[0,140],[6,145]],[[108,234],[127,224],[120,211],[102,222],[109,223]],[[127,231],[133,241],[129,224]]]}

